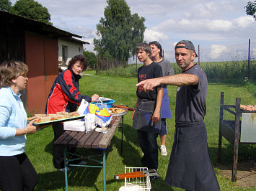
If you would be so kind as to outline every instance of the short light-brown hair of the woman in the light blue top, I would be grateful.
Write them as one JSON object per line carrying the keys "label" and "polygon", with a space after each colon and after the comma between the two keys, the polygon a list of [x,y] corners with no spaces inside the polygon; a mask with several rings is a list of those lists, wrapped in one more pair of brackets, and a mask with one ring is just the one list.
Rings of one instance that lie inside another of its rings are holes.
{"label": "short light-brown hair of the woman in the light blue top", "polygon": [[12,79],[19,75],[27,74],[28,67],[24,62],[17,60],[5,60],[0,65],[0,88],[12,85]]}

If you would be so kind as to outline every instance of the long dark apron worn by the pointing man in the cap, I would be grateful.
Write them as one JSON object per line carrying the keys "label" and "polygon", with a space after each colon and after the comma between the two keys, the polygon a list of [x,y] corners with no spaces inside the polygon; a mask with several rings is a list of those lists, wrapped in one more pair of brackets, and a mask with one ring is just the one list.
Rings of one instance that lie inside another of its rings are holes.
{"label": "long dark apron worn by the pointing man in the cap", "polygon": [[203,121],[176,124],[165,182],[185,190],[220,190],[208,152]]}

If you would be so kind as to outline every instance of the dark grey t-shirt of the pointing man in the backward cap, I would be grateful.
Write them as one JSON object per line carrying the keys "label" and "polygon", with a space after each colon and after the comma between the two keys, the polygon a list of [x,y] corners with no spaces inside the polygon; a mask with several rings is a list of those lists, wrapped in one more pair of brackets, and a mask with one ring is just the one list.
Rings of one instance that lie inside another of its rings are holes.
{"label": "dark grey t-shirt of the pointing man in the backward cap", "polygon": [[206,115],[207,77],[199,65],[193,65],[182,73],[198,76],[198,85],[178,86],[175,121],[198,122]]}

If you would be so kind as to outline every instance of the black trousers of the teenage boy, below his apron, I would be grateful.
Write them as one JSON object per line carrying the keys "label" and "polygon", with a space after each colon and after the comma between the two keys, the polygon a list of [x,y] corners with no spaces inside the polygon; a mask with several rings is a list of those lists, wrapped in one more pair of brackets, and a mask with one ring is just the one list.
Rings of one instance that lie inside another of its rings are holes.
{"label": "black trousers of the teenage boy, below his apron", "polygon": [[151,133],[138,130],[138,143],[141,146],[144,156],[141,159],[143,167],[148,169],[158,168],[158,146],[156,138],[158,133]]}

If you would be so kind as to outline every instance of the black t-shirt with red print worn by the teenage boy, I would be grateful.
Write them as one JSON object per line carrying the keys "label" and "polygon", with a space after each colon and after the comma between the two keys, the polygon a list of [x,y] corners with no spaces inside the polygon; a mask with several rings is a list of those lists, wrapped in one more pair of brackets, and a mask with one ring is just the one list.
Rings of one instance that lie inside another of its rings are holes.
{"label": "black t-shirt with red print worn by the teenage boy", "polygon": [[[151,78],[159,78],[162,77],[162,67],[156,62],[151,62],[150,65],[143,65],[138,68],[138,83]],[[138,86],[136,94],[137,97],[144,100],[156,101],[157,98],[157,88],[162,87],[162,85],[157,86],[152,91],[148,91],[145,93],[142,89],[143,85]]]}

